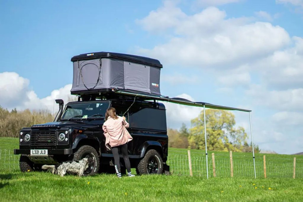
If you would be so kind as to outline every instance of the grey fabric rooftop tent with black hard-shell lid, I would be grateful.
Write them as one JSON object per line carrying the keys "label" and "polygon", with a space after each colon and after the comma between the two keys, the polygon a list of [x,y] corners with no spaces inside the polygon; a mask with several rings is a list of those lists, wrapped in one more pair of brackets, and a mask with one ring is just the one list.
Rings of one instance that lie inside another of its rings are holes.
{"label": "grey fabric rooftop tent with black hard-shell lid", "polygon": [[160,95],[158,60],[121,53],[96,52],[72,57],[72,94],[110,91],[112,88]]}

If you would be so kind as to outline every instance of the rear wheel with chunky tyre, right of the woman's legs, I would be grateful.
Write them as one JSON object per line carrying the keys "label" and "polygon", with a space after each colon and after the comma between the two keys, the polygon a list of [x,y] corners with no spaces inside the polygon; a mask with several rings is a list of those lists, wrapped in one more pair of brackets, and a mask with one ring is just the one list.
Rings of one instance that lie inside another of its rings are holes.
{"label": "rear wheel with chunky tyre, right of the woman's legs", "polygon": [[[150,164],[154,161],[154,164]],[[155,166],[156,165],[156,166]],[[155,167],[154,167],[155,166]],[[151,168],[154,167],[154,168]],[[158,151],[148,150],[145,156],[139,161],[136,168],[137,174],[162,174],[163,160]]]}

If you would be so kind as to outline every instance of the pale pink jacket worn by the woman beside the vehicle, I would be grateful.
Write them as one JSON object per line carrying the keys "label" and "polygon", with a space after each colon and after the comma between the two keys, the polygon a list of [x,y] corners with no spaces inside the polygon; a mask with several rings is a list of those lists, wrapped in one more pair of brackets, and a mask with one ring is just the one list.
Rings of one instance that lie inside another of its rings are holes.
{"label": "pale pink jacket worn by the woman beside the vehicle", "polygon": [[126,130],[128,127],[129,124],[122,117],[118,116],[118,119],[109,117],[102,126],[105,136],[105,146],[111,149],[111,147],[131,141],[133,138]]}

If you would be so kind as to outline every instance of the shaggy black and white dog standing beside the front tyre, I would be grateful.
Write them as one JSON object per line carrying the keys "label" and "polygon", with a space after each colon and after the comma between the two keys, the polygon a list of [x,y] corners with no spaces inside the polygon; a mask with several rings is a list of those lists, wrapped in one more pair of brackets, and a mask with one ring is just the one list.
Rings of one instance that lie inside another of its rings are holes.
{"label": "shaggy black and white dog standing beside the front tyre", "polygon": [[66,161],[57,165],[43,165],[42,169],[51,171],[52,174],[58,174],[63,177],[66,172],[78,174],[83,176],[84,171],[88,168],[88,158],[83,158],[80,161]]}

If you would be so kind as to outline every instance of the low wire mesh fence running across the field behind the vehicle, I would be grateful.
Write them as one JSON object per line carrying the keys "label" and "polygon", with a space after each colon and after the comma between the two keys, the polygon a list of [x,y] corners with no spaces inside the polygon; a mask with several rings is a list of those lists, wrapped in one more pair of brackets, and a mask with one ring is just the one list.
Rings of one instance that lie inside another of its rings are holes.
{"label": "low wire mesh fence running across the field behind the vehicle", "polygon": [[[174,151],[169,154],[167,164],[170,166],[172,175],[190,175],[188,154],[186,150]],[[245,155],[248,155],[249,158]],[[14,155],[13,150],[0,149],[0,172],[18,171],[20,155]],[[213,167],[215,166],[215,169]],[[206,156],[205,153],[191,151],[191,168],[193,176],[206,177]],[[264,178],[263,157],[255,158],[256,177]],[[208,176],[231,177],[231,163],[229,153],[215,154],[215,164],[208,155]],[[234,177],[254,177],[254,164],[251,154],[243,154],[242,157],[233,159]],[[266,156],[266,177],[294,177],[294,158]],[[303,178],[303,156],[296,158],[295,178]]]}

